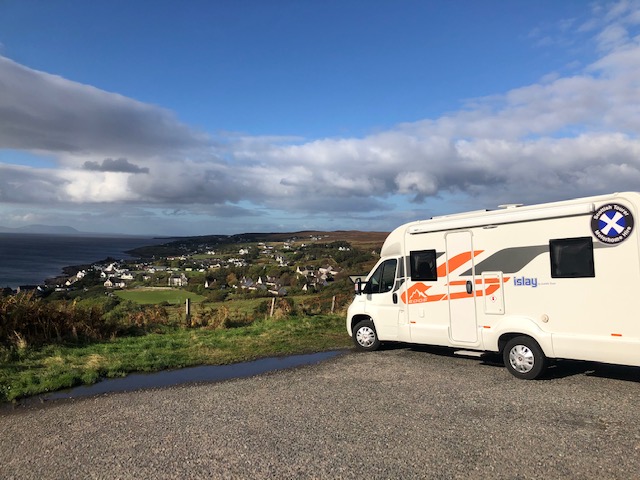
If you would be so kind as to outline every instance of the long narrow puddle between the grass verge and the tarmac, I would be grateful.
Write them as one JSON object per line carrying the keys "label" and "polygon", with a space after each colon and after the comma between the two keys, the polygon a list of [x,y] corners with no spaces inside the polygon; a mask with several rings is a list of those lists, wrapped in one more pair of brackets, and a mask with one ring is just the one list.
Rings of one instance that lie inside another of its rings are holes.
{"label": "long narrow puddle between the grass verge and the tarmac", "polygon": [[26,405],[50,400],[89,397],[103,393],[130,392],[147,388],[170,387],[185,383],[219,382],[233,378],[252,377],[261,373],[320,363],[324,360],[337,357],[338,355],[344,355],[347,352],[348,350],[334,350],[305,355],[291,355],[288,357],[263,358],[261,360],[232,365],[204,365],[156,373],[134,373],[122,378],[102,380],[93,385],[39,395],[36,398],[24,399],[19,401],[19,403]]}

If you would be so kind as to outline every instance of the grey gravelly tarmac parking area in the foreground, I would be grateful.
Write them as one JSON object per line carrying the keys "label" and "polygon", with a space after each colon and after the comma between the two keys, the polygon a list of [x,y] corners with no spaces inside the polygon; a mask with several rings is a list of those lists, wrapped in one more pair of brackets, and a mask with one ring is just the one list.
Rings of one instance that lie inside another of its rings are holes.
{"label": "grey gravelly tarmac parking area in the foreground", "polygon": [[640,368],[396,346],[0,411],[0,478],[640,478]]}

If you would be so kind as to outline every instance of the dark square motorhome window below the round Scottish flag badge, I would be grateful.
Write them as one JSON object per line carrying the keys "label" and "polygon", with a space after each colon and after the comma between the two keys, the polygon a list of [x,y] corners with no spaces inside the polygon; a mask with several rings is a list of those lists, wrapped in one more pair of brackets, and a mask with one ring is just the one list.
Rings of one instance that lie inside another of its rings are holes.
{"label": "dark square motorhome window below the round Scottish flag badge", "polygon": [[591,237],[549,240],[552,278],[595,277]]}

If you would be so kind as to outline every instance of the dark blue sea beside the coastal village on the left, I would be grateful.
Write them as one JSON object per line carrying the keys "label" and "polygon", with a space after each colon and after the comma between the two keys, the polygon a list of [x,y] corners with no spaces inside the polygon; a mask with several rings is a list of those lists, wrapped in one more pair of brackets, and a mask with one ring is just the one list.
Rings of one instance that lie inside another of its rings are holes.
{"label": "dark blue sea beside the coastal village on the left", "polygon": [[127,250],[159,245],[170,239],[0,233],[0,288],[43,285],[62,269],[112,257],[134,258]]}

